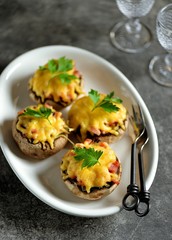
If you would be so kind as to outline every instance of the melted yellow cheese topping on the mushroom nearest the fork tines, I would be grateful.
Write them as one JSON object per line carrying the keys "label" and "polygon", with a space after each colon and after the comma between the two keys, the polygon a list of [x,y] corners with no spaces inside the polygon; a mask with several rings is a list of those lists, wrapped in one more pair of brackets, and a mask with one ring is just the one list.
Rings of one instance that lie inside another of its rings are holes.
{"label": "melted yellow cheese topping on the mushroom nearest the fork tines", "polygon": [[[100,101],[105,97],[101,94]],[[98,107],[92,111],[94,107],[93,101],[89,96],[78,99],[69,111],[69,126],[74,130],[80,128],[81,140],[87,137],[87,132],[91,135],[113,134],[119,135],[119,129],[125,130],[125,120],[127,118],[127,110],[122,104],[115,103],[119,110],[117,112],[106,112]]]}

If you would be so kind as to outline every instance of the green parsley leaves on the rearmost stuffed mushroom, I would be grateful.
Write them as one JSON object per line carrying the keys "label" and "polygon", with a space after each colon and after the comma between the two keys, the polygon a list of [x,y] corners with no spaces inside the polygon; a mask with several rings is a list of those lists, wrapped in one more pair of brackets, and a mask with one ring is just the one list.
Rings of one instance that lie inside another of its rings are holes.
{"label": "green parsley leaves on the rearmost stuffed mushroom", "polygon": [[75,75],[67,73],[73,68],[71,59],[68,59],[66,57],[61,57],[58,59],[58,61],[52,59],[48,61],[47,65],[48,67],[40,66],[39,70],[49,70],[52,74],[55,74],[51,79],[59,77],[61,82],[64,84],[69,84],[73,79],[76,79]]}

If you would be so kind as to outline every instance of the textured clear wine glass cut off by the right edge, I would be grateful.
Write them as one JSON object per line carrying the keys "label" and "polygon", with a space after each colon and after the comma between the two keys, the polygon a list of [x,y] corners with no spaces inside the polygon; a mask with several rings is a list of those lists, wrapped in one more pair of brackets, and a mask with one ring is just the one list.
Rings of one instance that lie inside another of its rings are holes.
{"label": "textured clear wine glass cut off by the right edge", "polygon": [[159,84],[172,87],[172,4],[158,13],[156,32],[159,43],[168,53],[153,57],[149,64],[150,75]]}

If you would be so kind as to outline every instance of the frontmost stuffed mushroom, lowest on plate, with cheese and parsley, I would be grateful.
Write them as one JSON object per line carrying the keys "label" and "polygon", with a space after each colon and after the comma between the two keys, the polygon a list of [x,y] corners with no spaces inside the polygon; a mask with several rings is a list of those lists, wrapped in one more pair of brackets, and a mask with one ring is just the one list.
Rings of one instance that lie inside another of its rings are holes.
{"label": "frontmost stuffed mushroom, lowest on plate, with cheese and parsley", "polygon": [[110,194],[120,183],[122,167],[106,142],[86,139],[77,143],[62,159],[64,183],[76,196],[97,200]]}

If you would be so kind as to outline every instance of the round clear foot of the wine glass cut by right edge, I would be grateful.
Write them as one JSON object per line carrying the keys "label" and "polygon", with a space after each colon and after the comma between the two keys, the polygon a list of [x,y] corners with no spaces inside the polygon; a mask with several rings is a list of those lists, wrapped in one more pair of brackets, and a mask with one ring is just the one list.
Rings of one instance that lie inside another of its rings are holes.
{"label": "round clear foot of the wine glass cut by right edge", "polygon": [[155,82],[172,87],[172,66],[166,64],[166,56],[167,54],[153,57],[149,64],[149,72]]}

